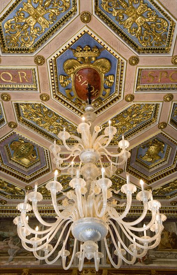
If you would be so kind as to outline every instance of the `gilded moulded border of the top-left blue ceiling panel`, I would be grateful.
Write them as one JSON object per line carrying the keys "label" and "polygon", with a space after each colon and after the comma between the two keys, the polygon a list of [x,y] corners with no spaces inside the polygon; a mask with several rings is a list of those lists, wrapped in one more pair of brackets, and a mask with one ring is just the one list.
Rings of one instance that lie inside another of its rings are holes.
{"label": "gilded moulded border of the top-left blue ceiling panel", "polygon": [[[21,0],[16,0],[9,8],[8,10],[2,15],[0,18],[0,23],[15,9],[15,7],[20,3]],[[77,0],[72,0],[72,8],[65,13],[60,20],[56,21],[56,23],[50,27],[46,33],[42,35],[32,46],[30,47],[7,47],[3,35],[3,29],[0,24],[0,45],[2,48],[2,52],[7,53],[32,53],[34,52],[38,47],[40,47],[46,40],[50,38],[58,29],[61,28],[75,13],[77,12]]]}

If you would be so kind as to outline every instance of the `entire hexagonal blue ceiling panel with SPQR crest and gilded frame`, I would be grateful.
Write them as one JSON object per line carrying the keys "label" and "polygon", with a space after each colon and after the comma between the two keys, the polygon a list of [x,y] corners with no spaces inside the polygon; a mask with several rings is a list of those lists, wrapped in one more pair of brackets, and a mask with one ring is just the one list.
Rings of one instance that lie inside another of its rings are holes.
{"label": "entire hexagonal blue ceiling panel with SPQR crest and gilded frame", "polygon": [[123,96],[125,60],[89,30],[60,49],[49,64],[53,97],[80,114],[88,83],[96,113]]}

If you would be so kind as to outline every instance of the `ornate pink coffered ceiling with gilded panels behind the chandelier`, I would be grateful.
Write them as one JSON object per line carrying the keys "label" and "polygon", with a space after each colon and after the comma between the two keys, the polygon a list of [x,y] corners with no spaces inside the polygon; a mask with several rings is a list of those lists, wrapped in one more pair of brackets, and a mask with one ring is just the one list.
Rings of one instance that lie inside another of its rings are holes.
{"label": "ornate pink coffered ceiling with gilded panels behind the chandelier", "polygon": [[[115,199],[125,199],[119,189],[128,171],[138,188],[144,179],[163,209],[175,207],[176,5],[173,0],[164,5],[163,0],[6,1],[0,17],[2,212],[13,211],[36,180],[41,207],[50,207],[45,185],[54,165],[48,147],[54,139],[61,144],[57,134],[63,127],[77,134],[88,82],[97,124],[104,129],[111,119],[117,128],[110,150],[117,152],[122,132],[130,142],[131,157],[112,178]],[[61,153],[67,155],[63,148]],[[58,179],[69,191],[66,169]],[[58,193],[58,201],[63,196]]]}

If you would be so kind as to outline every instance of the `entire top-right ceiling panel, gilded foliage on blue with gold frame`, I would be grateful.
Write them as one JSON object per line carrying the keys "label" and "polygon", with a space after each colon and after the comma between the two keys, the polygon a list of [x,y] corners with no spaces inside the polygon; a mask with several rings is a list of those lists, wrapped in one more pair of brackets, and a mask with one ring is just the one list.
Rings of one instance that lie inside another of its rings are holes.
{"label": "entire top-right ceiling panel, gilded foliage on blue with gold frame", "polygon": [[139,53],[170,52],[175,20],[154,0],[95,0],[95,14]]}

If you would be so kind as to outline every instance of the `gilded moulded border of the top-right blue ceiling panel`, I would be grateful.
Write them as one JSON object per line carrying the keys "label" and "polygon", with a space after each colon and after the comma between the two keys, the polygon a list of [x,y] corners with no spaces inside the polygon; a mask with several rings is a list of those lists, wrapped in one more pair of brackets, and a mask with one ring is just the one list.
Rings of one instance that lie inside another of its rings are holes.
{"label": "gilded moulded border of the top-right blue ceiling panel", "polygon": [[165,16],[166,19],[170,22],[169,30],[168,30],[168,39],[167,43],[168,46],[166,47],[143,47],[138,45],[132,38],[130,38],[129,35],[127,35],[108,15],[106,15],[100,8],[99,8],[99,0],[95,0],[95,14],[103,20],[107,26],[109,26],[111,29],[113,29],[116,34],[121,36],[128,45],[130,45],[132,48],[134,48],[139,53],[168,53],[171,50],[172,41],[173,41],[173,35],[175,31],[175,25],[176,23],[173,21],[173,19],[165,13],[165,9],[162,9],[158,3],[156,3],[154,0],[149,0],[154,7],[160,11],[161,14]]}

